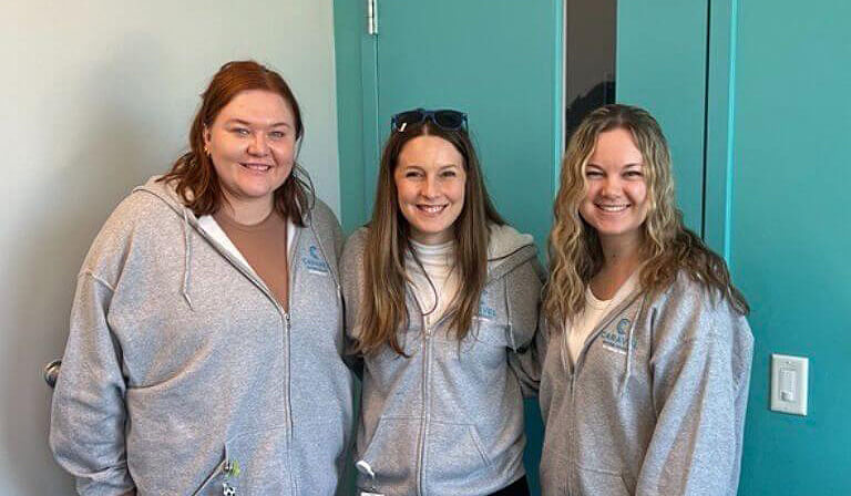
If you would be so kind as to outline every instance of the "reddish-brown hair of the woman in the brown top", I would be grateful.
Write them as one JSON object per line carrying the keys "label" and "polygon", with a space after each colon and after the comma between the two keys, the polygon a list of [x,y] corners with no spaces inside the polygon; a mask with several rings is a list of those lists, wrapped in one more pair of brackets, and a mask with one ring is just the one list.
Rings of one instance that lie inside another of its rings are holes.
{"label": "reddish-brown hair of the woman in the brown top", "polygon": [[[160,178],[162,182],[176,183],[177,195],[196,216],[215,214],[225,202],[213,161],[204,153],[204,130],[213,125],[222,108],[237,94],[248,90],[264,90],[280,95],[293,110],[296,141],[304,136],[301,111],[280,74],[253,60],[222,65],[201,94],[201,107],[189,130],[189,151],[175,161],[168,174]],[[275,190],[274,205],[284,218],[304,227],[303,209],[309,209],[308,202],[312,198],[312,186],[307,173],[295,164],[289,177]]]}

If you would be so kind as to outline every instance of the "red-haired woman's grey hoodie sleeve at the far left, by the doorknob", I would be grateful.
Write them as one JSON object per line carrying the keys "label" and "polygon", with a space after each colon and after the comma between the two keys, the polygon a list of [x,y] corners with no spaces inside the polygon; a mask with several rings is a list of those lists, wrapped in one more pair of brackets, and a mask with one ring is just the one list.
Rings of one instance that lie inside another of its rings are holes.
{"label": "red-haired woman's grey hoodie sleeve at the far left, by the doorknob", "polygon": [[124,447],[126,384],[106,309],[113,289],[90,272],[78,278],[71,330],[53,392],[50,447],[81,495],[132,490]]}

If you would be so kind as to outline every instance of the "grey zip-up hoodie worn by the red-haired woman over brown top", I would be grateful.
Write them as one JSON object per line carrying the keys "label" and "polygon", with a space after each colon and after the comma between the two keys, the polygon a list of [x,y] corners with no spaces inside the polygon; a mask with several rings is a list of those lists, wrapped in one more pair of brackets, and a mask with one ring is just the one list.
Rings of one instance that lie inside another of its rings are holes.
{"label": "grey zip-up hoodie worn by the red-haired woman over brown top", "polygon": [[331,495],[352,421],[337,258],[319,200],[290,312],[152,178],[78,277],[50,445],[83,495]]}

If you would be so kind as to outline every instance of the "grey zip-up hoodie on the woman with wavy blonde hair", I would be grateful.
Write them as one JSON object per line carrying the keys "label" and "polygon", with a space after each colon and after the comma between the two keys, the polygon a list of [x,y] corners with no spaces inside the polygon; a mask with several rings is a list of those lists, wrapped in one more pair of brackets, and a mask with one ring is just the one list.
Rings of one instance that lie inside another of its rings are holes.
{"label": "grey zip-up hoodie on the woman with wavy blonde hair", "polygon": [[545,496],[736,494],[753,337],[726,300],[680,273],[612,309],[575,366],[558,332],[535,348]]}

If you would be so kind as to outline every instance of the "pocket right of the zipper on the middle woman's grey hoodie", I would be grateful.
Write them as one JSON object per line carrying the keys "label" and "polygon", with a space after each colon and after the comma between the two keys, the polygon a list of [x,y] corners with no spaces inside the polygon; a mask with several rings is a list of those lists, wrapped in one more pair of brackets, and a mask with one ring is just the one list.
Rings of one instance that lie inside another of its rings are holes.
{"label": "pocket right of the zipper on the middle woman's grey hoodie", "polygon": [[430,424],[423,463],[431,482],[463,480],[491,466],[474,425],[444,422]]}

